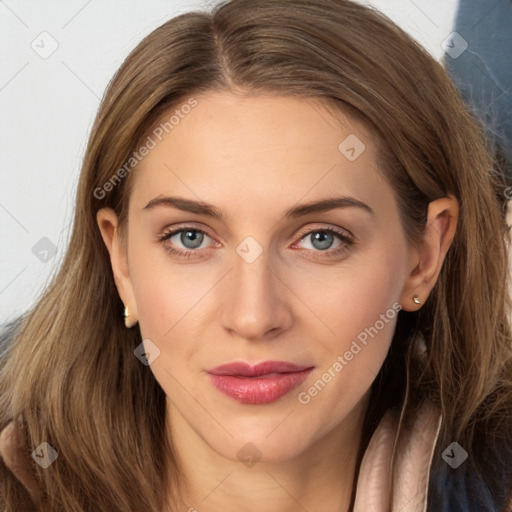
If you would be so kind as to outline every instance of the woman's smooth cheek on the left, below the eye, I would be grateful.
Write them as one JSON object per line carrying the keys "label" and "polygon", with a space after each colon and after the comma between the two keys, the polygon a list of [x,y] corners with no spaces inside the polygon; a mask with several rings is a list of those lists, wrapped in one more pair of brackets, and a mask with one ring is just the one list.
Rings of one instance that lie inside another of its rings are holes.
{"label": "woman's smooth cheek on the left, below the eye", "polygon": [[134,248],[130,258],[141,335],[160,350],[151,369],[169,395],[179,395],[172,377],[181,382],[200,373],[194,356],[208,345],[211,329],[205,325],[211,325],[212,291],[219,278],[213,267],[177,264],[155,247]]}

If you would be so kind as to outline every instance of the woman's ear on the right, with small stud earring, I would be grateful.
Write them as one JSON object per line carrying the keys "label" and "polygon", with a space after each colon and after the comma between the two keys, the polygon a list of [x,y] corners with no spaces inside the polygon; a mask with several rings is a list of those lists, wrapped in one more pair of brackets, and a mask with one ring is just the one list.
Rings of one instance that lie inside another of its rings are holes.
{"label": "woman's ear on the right, with small stud earring", "polygon": [[[423,240],[419,247],[411,247],[409,252],[411,271],[400,298],[406,311],[419,309],[434,288],[455,236],[458,216],[458,203],[451,195],[429,203]],[[414,297],[418,297],[420,304],[413,301]]]}

